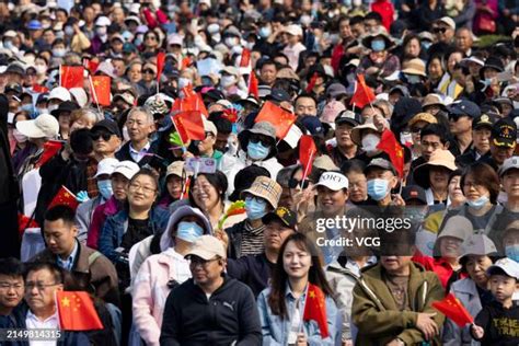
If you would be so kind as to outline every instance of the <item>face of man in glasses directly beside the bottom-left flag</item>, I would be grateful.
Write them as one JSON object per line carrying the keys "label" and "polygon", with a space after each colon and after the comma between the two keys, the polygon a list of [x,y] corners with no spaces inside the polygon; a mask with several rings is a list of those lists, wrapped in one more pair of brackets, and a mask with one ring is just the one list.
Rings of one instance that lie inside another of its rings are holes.
{"label": "face of man in glasses directly beside the bottom-left flag", "polygon": [[48,311],[55,308],[55,293],[62,290],[64,285],[55,281],[50,270],[33,270],[25,279],[25,301],[32,312]]}

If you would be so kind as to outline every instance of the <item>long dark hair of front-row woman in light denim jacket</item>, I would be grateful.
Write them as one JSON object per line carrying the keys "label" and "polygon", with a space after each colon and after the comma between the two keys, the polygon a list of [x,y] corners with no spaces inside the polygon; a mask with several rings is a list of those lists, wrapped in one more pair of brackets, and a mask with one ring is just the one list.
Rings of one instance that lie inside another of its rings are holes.
{"label": "long dark hair of front-row woman in light denim jacket", "polygon": [[318,250],[312,241],[302,233],[290,234],[281,245],[279,255],[277,256],[276,266],[274,267],[270,281],[270,295],[268,296],[268,305],[274,314],[281,316],[281,319],[288,319],[287,304],[285,302],[285,290],[288,280],[287,272],[282,266],[282,256],[287,244],[295,242],[296,245],[308,252],[312,256],[312,265],[308,273],[309,282],[318,286],[326,296],[332,296],[333,291],[330,287],[326,277],[324,276],[323,266],[321,258],[319,257]]}

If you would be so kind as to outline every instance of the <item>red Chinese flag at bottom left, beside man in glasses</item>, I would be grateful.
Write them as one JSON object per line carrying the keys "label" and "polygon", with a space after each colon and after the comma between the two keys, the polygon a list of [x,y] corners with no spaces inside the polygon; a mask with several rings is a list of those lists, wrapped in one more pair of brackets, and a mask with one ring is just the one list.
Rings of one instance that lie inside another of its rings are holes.
{"label": "red Chinese flag at bottom left, beside man in glasses", "polygon": [[93,331],[104,328],[89,293],[57,291],[59,327],[64,331]]}

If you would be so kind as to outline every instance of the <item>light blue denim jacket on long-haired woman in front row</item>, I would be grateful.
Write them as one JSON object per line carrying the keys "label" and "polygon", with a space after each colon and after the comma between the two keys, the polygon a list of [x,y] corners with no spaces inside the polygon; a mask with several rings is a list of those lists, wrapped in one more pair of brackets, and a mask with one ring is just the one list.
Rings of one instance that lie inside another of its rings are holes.
{"label": "light blue denim jacket on long-haired woman in front row", "polygon": [[[262,322],[263,332],[263,345],[287,345],[288,334],[290,332],[290,319],[282,319],[279,315],[275,315],[270,307],[268,305],[268,295],[270,295],[270,288],[264,289],[260,297],[257,297],[257,309],[260,310],[260,321]],[[288,315],[291,316],[296,309],[296,299],[287,285],[285,293]],[[307,295],[301,296],[301,301],[305,301]],[[310,346],[318,345],[335,345],[337,328],[341,330],[339,315],[337,307],[331,297],[326,297],[326,321],[328,325],[330,336],[325,339],[321,338],[321,332],[315,321],[304,321],[303,330],[307,335],[307,342]],[[301,307],[304,309],[304,307]],[[301,318],[303,311],[301,310]],[[341,336],[338,336],[341,339]]]}

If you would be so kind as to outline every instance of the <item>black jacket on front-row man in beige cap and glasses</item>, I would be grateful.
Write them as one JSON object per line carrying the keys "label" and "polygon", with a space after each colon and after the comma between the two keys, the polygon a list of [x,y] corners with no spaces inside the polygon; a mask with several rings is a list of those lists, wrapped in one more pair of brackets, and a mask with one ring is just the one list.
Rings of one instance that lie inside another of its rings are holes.
{"label": "black jacket on front-row man in beige cap and glasses", "polygon": [[261,345],[260,313],[251,289],[227,276],[209,299],[193,279],[177,286],[165,301],[160,344]]}

